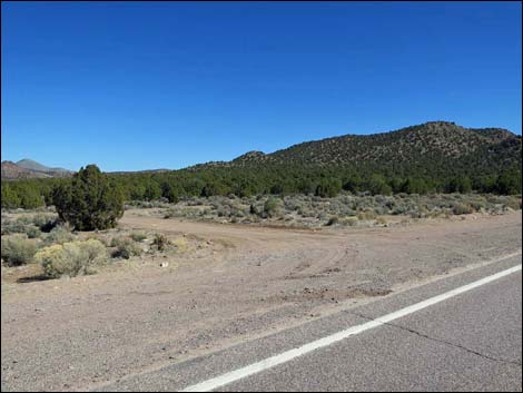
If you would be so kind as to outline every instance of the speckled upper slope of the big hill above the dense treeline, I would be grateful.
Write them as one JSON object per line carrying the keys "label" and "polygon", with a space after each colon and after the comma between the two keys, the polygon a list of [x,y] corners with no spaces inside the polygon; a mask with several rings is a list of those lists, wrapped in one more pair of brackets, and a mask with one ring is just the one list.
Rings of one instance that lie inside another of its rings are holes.
{"label": "speckled upper slope of the big hill above the dense treeline", "polygon": [[[500,128],[473,129],[432,121],[396,131],[307,141],[269,155],[247,154],[225,165],[304,165],[408,169],[474,165],[471,170],[521,167],[521,137]],[[434,168],[432,168],[434,169]]]}

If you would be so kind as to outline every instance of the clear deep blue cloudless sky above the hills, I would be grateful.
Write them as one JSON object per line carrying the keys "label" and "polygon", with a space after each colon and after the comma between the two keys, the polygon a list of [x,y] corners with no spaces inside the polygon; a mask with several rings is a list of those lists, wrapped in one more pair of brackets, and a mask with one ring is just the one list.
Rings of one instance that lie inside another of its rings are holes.
{"label": "clear deep blue cloudless sky above the hills", "polygon": [[2,160],[180,168],[428,120],[521,134],[519,2],[2,2]]}

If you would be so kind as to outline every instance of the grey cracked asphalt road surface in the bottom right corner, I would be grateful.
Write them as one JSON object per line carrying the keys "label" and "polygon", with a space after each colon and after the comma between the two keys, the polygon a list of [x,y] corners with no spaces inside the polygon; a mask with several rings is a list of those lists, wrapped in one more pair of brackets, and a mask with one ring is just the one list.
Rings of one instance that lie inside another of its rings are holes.
{"label": "grey cracked asphalt road surface in the bottom right corner", "polygon": [[[130,375],[98,390],[522,391],[521,269],[411,310],[414,304],[519,265],[521,255],[210,355]],[[401,310],[409,312],[374,323]],[[369,324],[355,335],[278,365],[264,363]],[[264,370],[243,376],[241,370],[253,364]],[[224,375],[231,381],[220,384]],[[201,385],[204,382],[209,384]]]}

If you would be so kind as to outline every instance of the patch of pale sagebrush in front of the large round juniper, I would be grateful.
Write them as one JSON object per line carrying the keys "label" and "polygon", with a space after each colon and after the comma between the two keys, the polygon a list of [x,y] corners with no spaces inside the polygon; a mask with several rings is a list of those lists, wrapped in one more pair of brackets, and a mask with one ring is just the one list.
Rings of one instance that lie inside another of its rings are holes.
{"label": "patch of pale sagebrush in front of the large round juniper", "polygon": [[73,230],[56,213],[38,210],[2,214],[1,240],[3,266],[38,264],[47,278],[92,274],[97,268],[139,259],[144,254],[166,255],[187,249],[179,246],[180,239],[171,242],[157,233]]}

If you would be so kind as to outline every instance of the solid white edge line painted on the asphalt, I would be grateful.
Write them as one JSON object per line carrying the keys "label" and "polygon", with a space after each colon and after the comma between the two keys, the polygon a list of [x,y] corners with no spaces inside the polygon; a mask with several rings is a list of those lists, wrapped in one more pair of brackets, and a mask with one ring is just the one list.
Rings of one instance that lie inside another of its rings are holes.
{"label": "solid white edge line painted on the asphalt", "polygon": [[405,315],[415,313],[416,311],[423,310],[425,307],[432,306],[436,303],[446,301],[447,298],[451,298],[453,296],[460,295],[464,292],[474,289],[481,285],[491,283],[495,279],[499,279],[501,277],[504,277],[509,274],[515,273],[521,271],[521,265],[511,267],[506,271],[496,273],[492,276],[487,276],[485,278],[478,279],[474,283],[463,285],[458,288],[445,292],[444,294],[427,298],[426,301],[413,304],[411,306],[407,306],[405,308],[398,310],[394,313],[386,314],[384,316],[381,316],[376,320],[373,320],[371,322],[364,323],[362,325],[353,326],[351,328],[347,328],[345,331],[341,331],[338,333],[332,334],[329,336],[326,336],[324,338],[319,338],[316,341],[313,341],[312,343],[305,344],[298,348],[294,348],[290,351],[286,351],[284,353],[280,353],[279,355],[275,355],[268,358],[265,358],[260,362],[253,363],[248,366],[231,371],[230,373],[210,379],[208,381],[204,381],[201,383],[198,383],[196,385],[188,386],[184,389],[181,392],[209,392],[214,389],[224,386],[226,384],[229,384],[231,382],[238,381],[240,379],[244,379],[246,376],[259,373],[264,370],[272,369],[274,366],[277,366],[278,364],[286,363],[295,357],[305,355],[306,353],[309,353],[312,351],[325,347],[327,345],[334,344],[341,340],[347,338],[349,336],[356,335],[358,333],[368,331],[369,328],[374,328],[377,326],[382,326],[383,324],[386,324],[387,322],[401,318]]}

